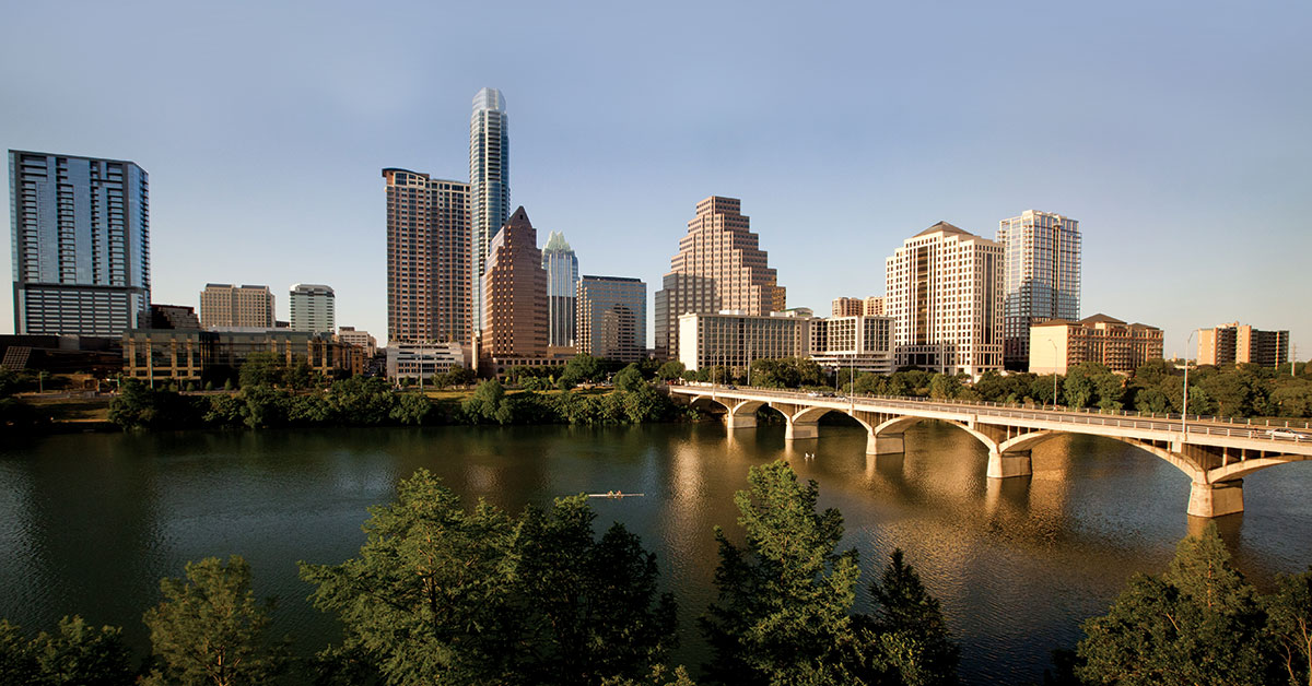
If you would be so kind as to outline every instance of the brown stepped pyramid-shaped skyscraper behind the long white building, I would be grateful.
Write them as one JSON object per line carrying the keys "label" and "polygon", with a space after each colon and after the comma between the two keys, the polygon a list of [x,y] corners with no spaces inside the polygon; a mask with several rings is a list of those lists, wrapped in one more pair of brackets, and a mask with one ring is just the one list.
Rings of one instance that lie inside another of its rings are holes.
{"label": "brown stepped pyramid-shaped skyscraper behind the long white building", "polygon": [[677,354],[681,315],[720,310],[769,315],[786,307],[785,289],[739,209],[736,198],[718,195],[697,203],[697,216],[656,291],[656,357]]}

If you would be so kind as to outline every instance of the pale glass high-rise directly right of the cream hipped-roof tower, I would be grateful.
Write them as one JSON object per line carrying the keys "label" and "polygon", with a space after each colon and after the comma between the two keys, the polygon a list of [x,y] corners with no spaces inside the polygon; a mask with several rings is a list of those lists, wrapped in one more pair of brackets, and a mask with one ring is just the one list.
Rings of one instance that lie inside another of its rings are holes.
{"label": "pale glass high-rise directly right of the cream hipped-roof tower", "polygon": [[1080,319],[1080,222],[1026,210],[998,222],[1005,266],[1002,357],[1008,369],[1030,367],[1030,327]]}

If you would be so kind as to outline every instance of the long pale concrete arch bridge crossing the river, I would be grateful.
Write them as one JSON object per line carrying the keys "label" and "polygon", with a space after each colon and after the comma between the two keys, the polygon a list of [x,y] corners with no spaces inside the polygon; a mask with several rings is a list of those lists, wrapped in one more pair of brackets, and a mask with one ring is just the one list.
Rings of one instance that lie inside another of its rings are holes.
{"label": "long pale concrete arch bridge crossing the river", "polygon": [[1244,476],[1287,462],[1312,459],[1305,422],[1240,422],[1178,414],[1097,413],[998,403],[959,403],[887,396],[825,396],[771,388],[672,386],[673,397],[723,407],[729,430],[756,426],[756,411],[771,407],[787,422],[785,438],[820,434],[819,420],[840,412],[867,432],[866,454],[903,453],[908,426],[938,420],[977,438],[988,449],[988,476],[1031,474],[1030,450],[1063,433],[1103,435],[1145,450],[1189,475],[1189,514],[1220,517],[1244,512]]}

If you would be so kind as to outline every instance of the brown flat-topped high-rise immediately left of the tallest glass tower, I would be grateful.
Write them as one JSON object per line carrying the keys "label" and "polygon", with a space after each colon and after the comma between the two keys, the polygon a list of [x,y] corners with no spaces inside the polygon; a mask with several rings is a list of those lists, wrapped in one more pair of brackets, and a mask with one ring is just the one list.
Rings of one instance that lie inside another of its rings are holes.
{"label": "brown flat-topped high-rise immediately left of the tallest glass tower", "polygon": [[468,344],[470,185],[383,169],[387,185],[387,338]]}

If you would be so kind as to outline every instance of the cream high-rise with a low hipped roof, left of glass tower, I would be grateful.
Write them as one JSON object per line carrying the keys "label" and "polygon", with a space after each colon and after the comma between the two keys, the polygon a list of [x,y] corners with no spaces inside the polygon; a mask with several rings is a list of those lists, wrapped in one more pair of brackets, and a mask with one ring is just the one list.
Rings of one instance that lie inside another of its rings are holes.
{"label": "cream high-rise with a low hipped roof, left of glass tower", "polygon": [[979,376],[1002,367],[1002,247],[939,222],[884,262],[897,366]]}

